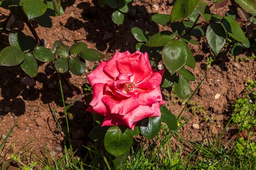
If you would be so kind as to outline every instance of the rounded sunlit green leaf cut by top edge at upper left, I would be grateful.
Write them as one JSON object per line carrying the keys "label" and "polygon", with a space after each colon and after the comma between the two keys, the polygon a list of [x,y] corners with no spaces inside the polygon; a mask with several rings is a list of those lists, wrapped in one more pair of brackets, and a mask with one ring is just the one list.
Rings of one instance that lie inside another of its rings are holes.
{"label": "rounded sunlit green leaf cut by top edge at upper left", "polygon": [[40,17],[47,10],[47,3],[45,0],[24,0],[23,11],[28,19]]}

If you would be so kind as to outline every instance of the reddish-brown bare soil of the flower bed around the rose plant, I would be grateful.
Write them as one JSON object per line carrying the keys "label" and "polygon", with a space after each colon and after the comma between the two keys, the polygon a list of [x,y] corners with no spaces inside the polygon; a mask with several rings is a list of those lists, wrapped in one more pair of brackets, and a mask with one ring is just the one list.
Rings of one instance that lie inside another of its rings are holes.
{"label": "reddish-brown bare soil of the flower bed around the rose plant", "polygon": [[[154,4],[159,6],[158,11],[154,11],[152,7]],[[234,7],[229,2],[228,6],[215,9],[214,13],[225,16],[225,12],[230,8]],[[89,48],[97,49],[105,54],[103,60],[107,61],[115,51],[135,51],[137,41],[131,34],[131,28],[139,27],[151,34],[169,29],[157,25],[150,18],[156,13],[170,14],[171,9],[171,0],[137,0],[133,4],[132,10],[125,14],[124,23],[121,26],[116,26],[111,21],[113,9],[109,7],[99,8],[97,3],[92,2],[92,0],[70,0],[64,6],[64,15],[52,17],[52,28],[38,26],[36,31],[48,48],[52,48],[55,40],[61,40],[69,47],[74,42],[85,42]],[[9,12],[3,8],[0,8],[0,14],[0,21],[6,22],[10,17]],[[12,25],[12,28],[19,28],[25,34],[32,36],[23,23],[16,22]],[[205,31],[206,27],[203,27],[203,29]],[[106,32],[111,33],[112,37],[103,41]],[[8,34],[9,32],[6,30],[1,31],[0,49],[9,45]],[[256,61],[236,62],[228,51],[223,49],[221,54],[214,57],[212,67],[207,70],[207,57],[214,55],[206,44],[205,37],[198,40],[201,45],[190,45],[197,62],[195,70],[191,70],[196,77],[196,81],[191,82],[192,91],[195,90],[205,75],[207,75],[207,78],[196,92],[192,102],[198,102],[198,105],[202,105],[205,113],[209,112],[209,115],[195,113],[189,123],[179,130],[179,133],[187,140],[192,140],[193,137],[196,142],[202,142],[202,139],[205,138],[204,128],[208,132],[211,129],[217,136],[223,130],[233,112],[231,105],[236,99],[243,96],[244,82],[248,78],[253,80],[256,78],[254,72]],[[38,64],[40,65],[38,76],[34,78],[35,85],[31,88],[26,87],[20,81],[27,76],[20,66],[0,67],[0,134],[6,135],[17,122],[17,126],[6,144],[6,147],[8,147],[15,142],[15,147],[8,153],[7,159],[10,159],[11,153],[17,152],[20,147],[32,140],[33,142],[26,147],[26,149],[30,148],[29,152],[35,150],[36,154],[41,155],[40,151],[45,153],[46,146],[56,156],[62,153],[64,135],[56,130],[57,125],[52,112],[55,108],[58,121],[61,122],[61,126],[66,132],[67,125],[63,113],[64,108],[58,78],[48,68],[49,64],[41,62]],[[68,79],[82,98],[87,96],[86,91],[83,90],[86,83],[88,83],[87,74],[97,64],[99,62],[88,62],[87,71],[81,77],[72,75]],[[220,94],[218,99],[215,99],[216,94]],[[72,97],[65,85],[64,96],[66,99]],[[170,111],[178,115],[184,106],[179,102],[180,100],[177,97],[171,98],[170,93],[166,90],[163,90],[163,98]],[[176,101],[176,104],[174,104],[174,101]],[[192,113],[189,111],[183,113],[183,116],[189,117],[191,115]],[[203,121],[207,116],[210,121]],[[212,117],[215,119],[211,120]],[[183,121],[181,119],[181,122]],[[87,145],[87,142],[90,141],[88,133],[93,127],[92,122],[91,114],[82,109],[79,110],[75,119],[69,121],[72,144],[75,149],[81,147],[82,144]],[[216,122],[216,124],[212,125],[213,122]],[[199,129],[193,129],[193,124],[198,124]],[[236,133],[236,130],[232,130],[233,128],[236,129],[236,127],[230,127],[230,130],[222,136],[223,141],[230,139]],[[255,137],[255,132],[253,136]],[[25,150],[20,151],[23,156],[26,155],[24,152]],[[86,150],[81,147],[77,155],[85,152]]]}

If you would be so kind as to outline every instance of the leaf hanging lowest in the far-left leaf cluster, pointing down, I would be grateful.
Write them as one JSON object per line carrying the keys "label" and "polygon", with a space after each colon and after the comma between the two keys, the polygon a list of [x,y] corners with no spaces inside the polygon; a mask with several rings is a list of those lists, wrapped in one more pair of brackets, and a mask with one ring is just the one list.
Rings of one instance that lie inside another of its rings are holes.
{"label": "leaf hanging lowest in the far-left leaf cluster, pointing down", "polygon": [[25,59],[20,66],[30,77],[35,77],[38,74],[38,64],[35,56],[31,53],[25,55]]}

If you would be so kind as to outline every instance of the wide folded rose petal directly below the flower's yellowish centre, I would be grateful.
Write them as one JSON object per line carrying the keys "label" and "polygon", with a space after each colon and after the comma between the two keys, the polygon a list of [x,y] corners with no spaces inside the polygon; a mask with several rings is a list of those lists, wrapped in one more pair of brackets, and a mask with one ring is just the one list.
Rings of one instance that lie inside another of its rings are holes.
{"label": "wide folded rose petal directly below the flower's yellowish centre", "polygon": [[132,94],[128,99],[120,99],[116,96],[104,96],[102,102],[112,114],[125,115],[140,106],[140,99]]}

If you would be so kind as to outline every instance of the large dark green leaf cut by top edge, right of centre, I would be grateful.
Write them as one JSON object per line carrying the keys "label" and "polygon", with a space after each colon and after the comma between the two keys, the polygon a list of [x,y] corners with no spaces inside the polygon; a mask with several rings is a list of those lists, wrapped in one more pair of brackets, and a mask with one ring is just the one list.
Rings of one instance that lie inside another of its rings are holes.
{"label": "large dark green leaf cut by top edge, right of centre", "polygon": [[198,6],[198,2],[199,0],[176,0],[171,12],[171,22],[188,17]]}

